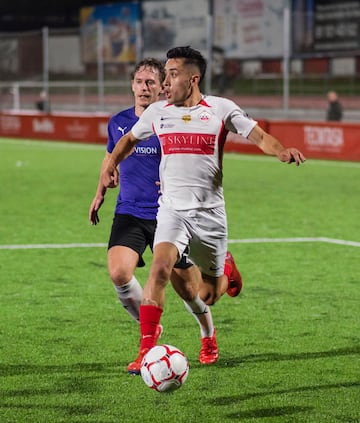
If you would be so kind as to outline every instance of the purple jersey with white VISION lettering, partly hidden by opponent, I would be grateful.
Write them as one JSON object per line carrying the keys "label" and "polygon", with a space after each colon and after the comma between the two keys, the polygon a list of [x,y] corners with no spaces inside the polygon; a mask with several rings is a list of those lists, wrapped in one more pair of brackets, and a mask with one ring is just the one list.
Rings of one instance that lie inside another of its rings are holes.
{"label": "purple jersey with white VISION lettering, partly hidden by opponent", "polygon": [[[111,153],[119,139],[138,121],[135,108],[112,116],[108,125],[107,151]],[[156,136],[140,141],[133,153],[121,162],[120,192],[115,213],[141,219],[156,219],[158,209],[159,164],[161,149]]]}

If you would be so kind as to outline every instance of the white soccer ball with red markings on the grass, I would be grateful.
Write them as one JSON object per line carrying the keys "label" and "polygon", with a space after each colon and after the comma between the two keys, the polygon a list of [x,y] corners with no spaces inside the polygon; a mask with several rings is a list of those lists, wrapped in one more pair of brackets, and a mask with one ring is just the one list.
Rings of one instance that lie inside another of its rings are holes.
{"label": "white soccer ball with red markings on the grass", "polygon": [[144,356],[140,372],[149,388],[158,392],[169,392],[185,383],[189,364],[178,348],[172,345],[157,345]]}

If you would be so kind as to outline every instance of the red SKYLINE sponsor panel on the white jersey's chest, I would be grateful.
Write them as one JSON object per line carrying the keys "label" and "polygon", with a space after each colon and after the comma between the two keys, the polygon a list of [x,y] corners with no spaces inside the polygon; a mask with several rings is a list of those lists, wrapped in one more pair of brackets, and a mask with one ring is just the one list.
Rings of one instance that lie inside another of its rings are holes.
{"label": "red SKYLINE sponsor panel on the white jersey's chest", "polygon": [[214,154],[214,134],[171,133],[159,135],[164,154]]}

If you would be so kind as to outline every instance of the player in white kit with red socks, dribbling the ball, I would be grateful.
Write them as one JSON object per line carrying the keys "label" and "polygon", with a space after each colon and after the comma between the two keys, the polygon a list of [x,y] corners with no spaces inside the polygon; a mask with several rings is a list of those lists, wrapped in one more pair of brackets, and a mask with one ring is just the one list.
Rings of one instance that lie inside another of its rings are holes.
{"label": "player in white kit with red socks, dribbling the ball", "polygon": [[138,370],[143,356],[155,345],[155,331],[165,303],[165,288],[174,264],[190,246],[190,258],[211,287],[210,303],[226,291],[224,262],[227,221],[222,188],[222,157],[226,135],[238,133],[265,154],[299,165],[305,161],[296,148],[285,148],[263,131],[231,100],[205,96],[200,82],[206,61],[190,47],[167,52],[166,100],[151,104],[132,130],[113,150],[102,173],[104,186],[118,184],[117,165],[139,142],[154,133],[161,143],[161,197],[157,215],[153,261],[140,306],[140,351],[128,370]]}

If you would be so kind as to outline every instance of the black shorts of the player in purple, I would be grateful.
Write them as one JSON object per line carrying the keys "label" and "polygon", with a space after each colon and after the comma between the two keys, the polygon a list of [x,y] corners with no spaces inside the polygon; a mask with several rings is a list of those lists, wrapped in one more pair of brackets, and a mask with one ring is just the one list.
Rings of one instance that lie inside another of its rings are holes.
{"label": "black shorts of the player in purple", "polygon": [[[116,245],[128,247],[139,254],[138,267],[144,267],[142,257],[146,247],[153,249],[156,220],[140,219],[129,214],[115,214],[111,227],[108,249]],[[188,249],[174,267],[187,269],[193,264],[188,258]]]}

